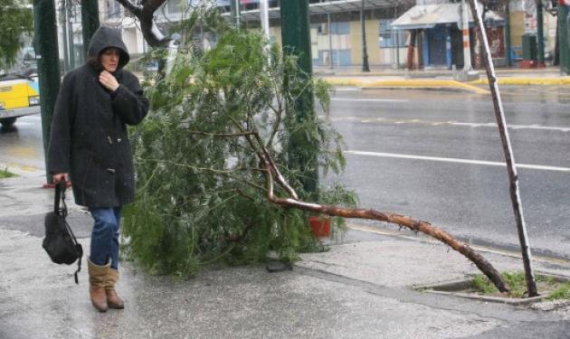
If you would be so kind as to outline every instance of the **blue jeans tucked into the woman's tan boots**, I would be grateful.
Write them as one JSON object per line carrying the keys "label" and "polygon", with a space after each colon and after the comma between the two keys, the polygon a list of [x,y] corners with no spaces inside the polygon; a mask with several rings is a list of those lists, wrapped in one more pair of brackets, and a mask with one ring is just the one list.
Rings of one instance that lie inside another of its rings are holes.
{"label": "blue jeans tucked into the woman's tan boots", "polygon": [[95,220],[91,231],[90,260],[95,265],[119,268],[120,207],[90,209]]}

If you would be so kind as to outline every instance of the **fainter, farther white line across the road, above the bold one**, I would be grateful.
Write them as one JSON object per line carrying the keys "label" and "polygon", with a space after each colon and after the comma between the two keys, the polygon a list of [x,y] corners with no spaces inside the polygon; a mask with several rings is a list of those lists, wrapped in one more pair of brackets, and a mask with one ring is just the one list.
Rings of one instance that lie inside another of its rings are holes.
{"label": "fainter, farther white line across the road, above the bold one", "polygon": [[[322,116],[321,118],[325,118]],[[429,125],[429,126],[442,126],[442,125],[451,125],[451,126],[459,126],[459,127],[491,127],[496,128],[497,123],[495,122],[459,122],[459,121],[428,121],[428,120],[420,120],[417,118],[414,119],[390,119],[390,118],[367,118],[367,117],[338,117],[338,118],[330,118],[331,121],[357,121],[362,123],[377,123],[383,122],[387,124],[421,124],[421,125]],[[570,127],[562,127],[562,126],[541,126],[537,124],[533,125],[508,125],[509,129],[536,129],[536,130],[550,130],[550,131],[558,131],[558,132],[570,132]]]}

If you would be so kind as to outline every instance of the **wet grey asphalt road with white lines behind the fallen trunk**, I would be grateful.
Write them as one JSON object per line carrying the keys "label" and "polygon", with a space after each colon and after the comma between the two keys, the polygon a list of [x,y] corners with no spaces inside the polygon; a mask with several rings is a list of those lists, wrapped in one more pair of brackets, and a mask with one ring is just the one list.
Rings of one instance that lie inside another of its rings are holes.
{"label": "wet grey asphalt road with white lines behind the fallen trunk", "polygon": [[[502,96],[531,247],[570,258],[570,90],[511,88]],[[362,207],[516,250],[508,174],[489,96],[337,89],[329,117],[347,144],[345,174],[329,179],[356,191]]]}

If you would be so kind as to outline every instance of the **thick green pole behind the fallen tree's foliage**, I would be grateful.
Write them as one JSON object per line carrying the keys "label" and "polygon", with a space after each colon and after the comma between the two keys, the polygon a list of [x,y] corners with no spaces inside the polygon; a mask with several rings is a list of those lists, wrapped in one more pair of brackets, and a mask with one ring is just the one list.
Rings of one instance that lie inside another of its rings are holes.
{"label": "thick green pole behind the fallen tree's foliage", "polygon": [[[283,54],[296,56],[301,71],[305,73],[307,80],[312,76],[312,60],[310,50],[309,32],[309,1],[287,0],[280,2],[281,14],[281,39],[283,42]],[[287,78],[287,75],[285,75]],[[297,98],[291,104],[296,119],[299,121],[314,120],[315,110],[313,107],[313,93],[308,89],[299,89],[299,93],[293,93]],[[310,133],[309,133],[310,135]],[[308,170],[308,174],[301,179],[305,191],[311,194],[311,198],[317,198],[318,187],[318,154],[307,149],[315,149],[314,140],[310,136],[297,135],[291,137],[289,163],[291,168]],[[299,149],[305,147],[303,151]],[[308,166],[312,168],[308,169]]]}

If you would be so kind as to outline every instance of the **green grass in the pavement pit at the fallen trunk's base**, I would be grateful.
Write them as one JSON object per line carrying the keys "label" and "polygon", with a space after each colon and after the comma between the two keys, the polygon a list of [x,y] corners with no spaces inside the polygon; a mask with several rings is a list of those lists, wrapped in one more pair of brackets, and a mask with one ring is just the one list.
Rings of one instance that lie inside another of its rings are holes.
{"label": "green grass in the pavement pit at the fallen trunk's base", "polygon": [[[527,294],[527,282],[524,272],[503,272],[501,277],[505,280],[511,291],[507,297],[525,297]],[[570,299],[570,281],[560,281],[554,277],[537,275],[535,277],[538,293],[548,293],[547,300]],[[482,295],[505,296],[499,293],[489,278],[482,274],[474,276],[471,280],[471,288]]]}

